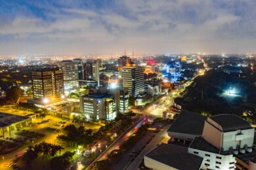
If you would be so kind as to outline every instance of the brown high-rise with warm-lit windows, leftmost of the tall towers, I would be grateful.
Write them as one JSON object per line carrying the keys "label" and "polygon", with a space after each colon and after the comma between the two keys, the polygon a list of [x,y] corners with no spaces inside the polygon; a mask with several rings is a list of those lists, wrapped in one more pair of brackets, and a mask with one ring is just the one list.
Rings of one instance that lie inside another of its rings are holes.
{"label": "brown high-rise with warm-lit windows, leftmost of the tall towers", "polygon": [[34,99],[59,98],[64,94],[63,72],[53,69],[32,71],[32,86]]}

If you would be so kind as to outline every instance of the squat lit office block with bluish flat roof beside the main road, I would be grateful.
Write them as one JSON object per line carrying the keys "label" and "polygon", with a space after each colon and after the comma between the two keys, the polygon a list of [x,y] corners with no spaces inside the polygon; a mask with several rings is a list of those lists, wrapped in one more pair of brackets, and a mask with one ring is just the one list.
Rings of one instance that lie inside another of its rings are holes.
{"label": "squat lit office block with bluish flat roof beside the main road", "polygon": [[116,118],[115,96],[108,93],[90,93],[80,98],[81,112],[93,120],[113,120]]}

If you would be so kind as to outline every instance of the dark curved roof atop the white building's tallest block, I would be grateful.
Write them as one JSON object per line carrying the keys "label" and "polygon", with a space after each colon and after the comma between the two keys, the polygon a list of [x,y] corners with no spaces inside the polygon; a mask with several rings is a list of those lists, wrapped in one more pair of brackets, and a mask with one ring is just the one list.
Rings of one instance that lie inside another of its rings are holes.
{"label": "dark curved roof atop the white building's tallest block", "polygon": [[209,119],[213,120],[221,126],[221,131],[236,131],[238,129],[251,129],[251,124],[246,120],[240,118],[236,114],[217,114],[211,116]]}

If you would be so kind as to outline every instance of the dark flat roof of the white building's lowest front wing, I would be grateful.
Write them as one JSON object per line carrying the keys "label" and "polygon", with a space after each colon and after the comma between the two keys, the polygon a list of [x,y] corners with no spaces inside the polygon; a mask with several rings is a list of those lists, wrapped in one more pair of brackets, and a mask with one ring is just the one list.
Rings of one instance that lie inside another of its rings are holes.
{"label": "dark flat roof of the white building's lowest front wing", "polygon": [[173,144],[160,144],[145,155],[175,169],[200,169],[203,158],[188,153],[188,148]]}

